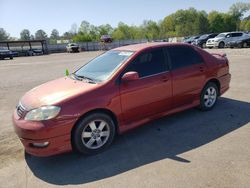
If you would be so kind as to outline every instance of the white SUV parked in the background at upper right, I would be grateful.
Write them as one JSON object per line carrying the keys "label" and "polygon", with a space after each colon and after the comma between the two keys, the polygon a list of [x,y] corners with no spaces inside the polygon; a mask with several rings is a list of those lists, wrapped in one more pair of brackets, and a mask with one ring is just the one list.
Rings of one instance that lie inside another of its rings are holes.
{"label": "white SUV parked in the background at upper right", "polygon": [[227,33],[220,33],[215,38],[208,39],[206,46],[208,48],[224,48],[228,42],[235,41],[235,40],[243,40],[249,38],[249,35],[244,32],[227,32]]}

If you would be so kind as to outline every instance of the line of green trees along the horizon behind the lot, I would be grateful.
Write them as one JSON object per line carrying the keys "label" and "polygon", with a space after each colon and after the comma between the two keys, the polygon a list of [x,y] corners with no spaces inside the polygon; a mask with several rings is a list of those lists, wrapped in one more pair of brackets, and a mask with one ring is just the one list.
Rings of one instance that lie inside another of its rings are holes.
{"label": "line of green trees along the horizon behind the lot", "polygon": [[[166,16],[161,21],[145,20],[140,26],[128,25],[123,22],[113,28],[109,24],[95,26],[87,21],[82,21],[79,28],[76,24],[62,35],[57,29],[51,31],[50,36],[39,29],[34,35],[28,29],[20,33],[19,40],[47,39],[50,43],[57,40],[68,39],[75,42],[99,41],[102,35],[110,35],[114,40],[124,39],[163,39],[168,37],[182,37],[205,33],[220,33],[226,31],[250,31],[250,3],[238,2],[233,4],[226,13],[211,11],[198,11],[195,8],[178,10]],[[12,37],[0,28],[0,41],[13,40]]]}

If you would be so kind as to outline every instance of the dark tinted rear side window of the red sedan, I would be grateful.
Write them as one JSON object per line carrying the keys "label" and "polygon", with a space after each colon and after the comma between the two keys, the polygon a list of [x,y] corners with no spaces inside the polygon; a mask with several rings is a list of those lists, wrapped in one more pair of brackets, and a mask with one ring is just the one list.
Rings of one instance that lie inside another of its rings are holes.
{"label": "dark tinted rear side window of the red sedan", "polygon": [[175,46],[167,49],[173,70],[203,63],[202,57],[190,47]]}

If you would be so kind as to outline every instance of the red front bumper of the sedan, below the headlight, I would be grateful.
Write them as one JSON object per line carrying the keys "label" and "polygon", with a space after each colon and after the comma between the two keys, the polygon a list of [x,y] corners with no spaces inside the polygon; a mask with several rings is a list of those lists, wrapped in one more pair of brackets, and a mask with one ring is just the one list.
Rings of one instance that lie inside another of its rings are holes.
{"label": "red front bumper of the sedan, below the headlight", "polygon": [[[26,121],[13,114],[13,126],[27,153],[45,157],[69,152],[71,147],[71,129],[76,119],[59,121]],[[34,146],[46,143],[45,147]]]}

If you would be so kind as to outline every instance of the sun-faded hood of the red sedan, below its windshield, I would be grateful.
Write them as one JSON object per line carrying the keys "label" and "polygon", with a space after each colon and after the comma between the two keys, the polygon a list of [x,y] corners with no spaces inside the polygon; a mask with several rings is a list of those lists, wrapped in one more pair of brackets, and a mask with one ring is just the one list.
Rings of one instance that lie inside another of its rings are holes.
{"label": "sun-faded hood of the red sedan, below its windshield", "polygon": [[55,105],[89,92],[98,85],[63,77],[33,88],[21,98],[20,102],[26,110],[45,105]]}

